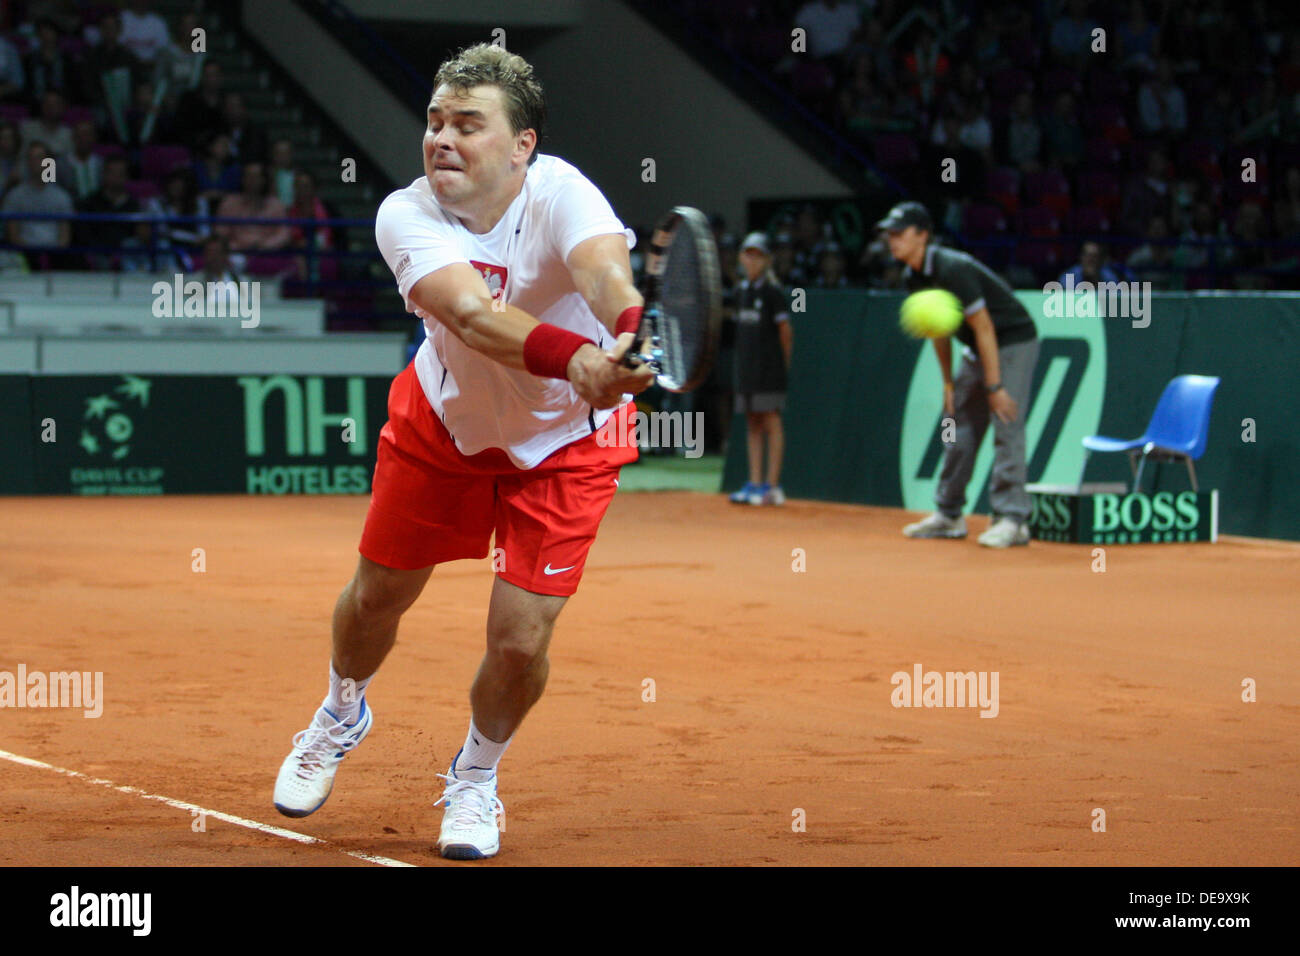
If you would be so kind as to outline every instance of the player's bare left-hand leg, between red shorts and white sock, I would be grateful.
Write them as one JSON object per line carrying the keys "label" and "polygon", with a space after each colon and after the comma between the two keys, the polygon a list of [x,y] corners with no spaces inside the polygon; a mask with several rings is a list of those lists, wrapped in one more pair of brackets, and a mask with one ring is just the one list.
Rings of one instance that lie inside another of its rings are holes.
{"label": "player's bare left-hand leg, between red shorts and white sock", "polygon": [[393,649],[398,620],[424,591],[432,567],[399,571],[361,557],[334,605],[334,670],[367,680]]}

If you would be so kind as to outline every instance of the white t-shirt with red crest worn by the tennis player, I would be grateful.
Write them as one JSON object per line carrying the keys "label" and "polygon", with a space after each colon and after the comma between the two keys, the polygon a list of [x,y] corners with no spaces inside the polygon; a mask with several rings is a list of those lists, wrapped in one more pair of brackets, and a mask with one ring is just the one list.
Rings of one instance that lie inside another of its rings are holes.
{"label": "white t-shirt with red crest worn by the tennis player", "polygon": [[469,263],[494,298],[504,295],[538,321],[608,349],[614,337],[575,287],[566,260],[580,242],[615,233],[627,238],[628,248],[636,245],[636,233],[624,228],[601,191],[556,156],[537,157],[515,202],[482,235],[438,206],[424,176],[380,204],[376,242],[407,311],[424,320],[428,333],[415,372],[462,454],[499,447],[516,467],[533,468],[598,429],[612,410],[593,410],[563,378],[506,368],[469,349],[411,302],[411,287],[445,265]]}

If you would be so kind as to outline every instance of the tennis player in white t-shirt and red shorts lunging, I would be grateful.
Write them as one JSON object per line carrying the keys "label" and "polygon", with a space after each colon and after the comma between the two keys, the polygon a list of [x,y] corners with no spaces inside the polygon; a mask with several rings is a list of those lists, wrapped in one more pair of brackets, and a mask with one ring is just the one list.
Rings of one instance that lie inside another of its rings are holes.
{"label": "tennis player in white t-shirt and red shorts lunging", "polygon": [[[654,376],[620,359],[640,323],[630,229],[577,169],[537,152],[532,66],[480,44],[443,62],[424,176],[389,195],[378,247],[428,338],[393,382],[360,562],[334,609],[329,693],[280,769],[274,803],[306,817],[370,732],[365,692],[436,564],[495,535],[488,648],[445,782],[438,848],[499,848],[497,766],[546,685],[547,645],[637,457],[630,397]],[[598,434],[608,429],[608,434]],[[437,804],[436,804],[437,805]]]}

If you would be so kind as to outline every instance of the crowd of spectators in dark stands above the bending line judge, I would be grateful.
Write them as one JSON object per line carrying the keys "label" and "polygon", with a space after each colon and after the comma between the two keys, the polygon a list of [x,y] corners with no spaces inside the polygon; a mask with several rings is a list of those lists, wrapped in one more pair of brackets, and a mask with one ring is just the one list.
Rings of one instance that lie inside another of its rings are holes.
{"label": "crowd of spectators in dark stands above the bending line judge", "polygon": [[[679,5],[1013,281],[1058,277],[1089,238],[1161,289],[1296,287],[1294,4]],[[792,239],[790,274],[807,273],[826,238]],[[848,252],[854,284],[896,281],[879,246]]]}

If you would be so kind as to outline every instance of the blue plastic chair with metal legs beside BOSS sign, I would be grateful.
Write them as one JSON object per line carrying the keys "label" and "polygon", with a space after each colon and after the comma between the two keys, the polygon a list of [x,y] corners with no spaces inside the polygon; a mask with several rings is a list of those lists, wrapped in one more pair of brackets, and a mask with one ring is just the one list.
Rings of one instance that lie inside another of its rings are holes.
{"label": "blue plastic chair with metal legs beside BOSS sign", "polygon": [[1196,470],[1192,462],[1205,454],[1205,442],[1210,431],[1210,406],[1214,403],[1214,390],[1219,385],[1218,376],[1180,375],[1175,377],[1150,416],[1150,424],[1141,437],[1132,441],[1108,438],[1104,434],[1088,436],[1083,440],[1083,468],[1079,470],[1079,488],[1083,488],[1083,473],[1088,468],[1088,457],[1093,451],[1127,451],[1128,467],[1134,472],[1134,490],[1141,489],[1141,471],[1147,459],[1153,462],[1187,462],[1187,473],[1196,485]]}

